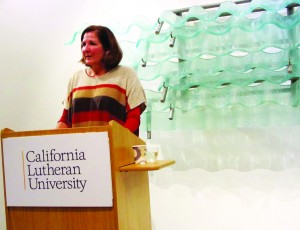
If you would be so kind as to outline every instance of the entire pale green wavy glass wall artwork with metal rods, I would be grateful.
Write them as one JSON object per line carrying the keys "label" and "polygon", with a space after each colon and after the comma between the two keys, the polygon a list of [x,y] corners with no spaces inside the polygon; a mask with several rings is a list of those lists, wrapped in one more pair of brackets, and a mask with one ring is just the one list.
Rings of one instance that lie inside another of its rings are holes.
{"label": "entire pale green wavy glass wall artwork with metal rods", "polygon": [[299,3],[223,2],[132,23],[138,39],[121,44],[146,89],[143,129],[299,124]]}

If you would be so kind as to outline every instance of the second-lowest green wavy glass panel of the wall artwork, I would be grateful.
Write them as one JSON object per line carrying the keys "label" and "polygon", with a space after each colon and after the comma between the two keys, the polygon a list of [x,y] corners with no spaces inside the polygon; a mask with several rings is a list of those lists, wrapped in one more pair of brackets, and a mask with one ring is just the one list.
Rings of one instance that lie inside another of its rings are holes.
{"label": "second-lowest green wavy glass panel of the wall artwork", "polygon": [[[192,87],[189,90],[169,90],[168,102],[161,103],[153,100],[153,92],[146,91],[151,110],[166,111],[170,106],[182,111],[193,110],[197,107],[227,108],[235,106],[255,107],[264,103],[284,106],[299,104],[300,83],[272,84],[261,82],[247,86],[226,85],[219,88]],[[156,93],[161,96],[161,93]],[[158,99],[158,98],[156,98]],[[150,109],[148,109],[150,110]]]}

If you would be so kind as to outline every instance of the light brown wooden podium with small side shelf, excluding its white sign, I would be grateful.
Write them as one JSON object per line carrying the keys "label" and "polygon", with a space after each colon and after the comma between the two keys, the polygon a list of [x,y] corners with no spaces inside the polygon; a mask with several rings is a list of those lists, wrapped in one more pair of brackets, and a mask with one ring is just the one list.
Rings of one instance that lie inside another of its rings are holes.
{"label": "light brown wooden podium with small side shelf, excluding its white sign", "polygon": [[112,207],[11,207],[7,206],[5,167],[3,177],[5,210],[8,230],[151,230],[148,171],[158,170],[174,161],[157,161],[135,165],[132,145],[143,140],[117,122],[86,128],[1,132],[2,156],[5,138],[60,135],[88,132],[107,132],[109,137]]}

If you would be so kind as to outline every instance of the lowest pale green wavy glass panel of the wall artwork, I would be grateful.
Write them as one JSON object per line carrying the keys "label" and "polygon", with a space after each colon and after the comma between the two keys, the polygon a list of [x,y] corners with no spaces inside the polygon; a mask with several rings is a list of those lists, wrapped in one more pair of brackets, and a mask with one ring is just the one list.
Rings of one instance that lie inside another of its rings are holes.
{"label": "lowest pale green wavy glass panel of the wall artwork", "polygon": [[[146,112],[141,129],[146,130]],[[173,119],[169,111],[148,112],[153,130],[197,130],[235,127],[290,126],[300,123],[299,107],[265,103],[258,106],[234,106],[224,109],[198,107],[188,112],[175,109]],[[284,119],[283,119],[284,118]]]}

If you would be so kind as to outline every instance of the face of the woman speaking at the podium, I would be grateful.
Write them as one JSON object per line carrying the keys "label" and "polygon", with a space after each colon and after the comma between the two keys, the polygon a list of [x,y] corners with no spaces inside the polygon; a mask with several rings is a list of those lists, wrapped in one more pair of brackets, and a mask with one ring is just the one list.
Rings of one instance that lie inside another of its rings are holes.
{"label": "face of the woman speaking at the podium", "polygon": [[101,60],[105,55],[105,51],[96,32],[84,34],[81,42],[81,52],[87,66],[92,67],[92,69],[102,66]]}

